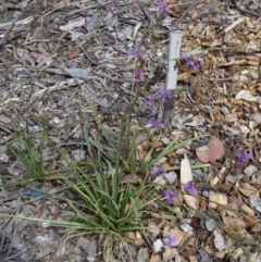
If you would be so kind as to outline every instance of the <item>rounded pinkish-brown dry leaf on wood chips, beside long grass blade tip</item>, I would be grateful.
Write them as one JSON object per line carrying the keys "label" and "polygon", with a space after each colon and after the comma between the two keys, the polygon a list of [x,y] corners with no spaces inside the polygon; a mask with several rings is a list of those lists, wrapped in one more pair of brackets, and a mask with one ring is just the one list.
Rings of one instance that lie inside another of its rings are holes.
{"label": "rounded pinkish-brown dry leaf on wood chips, beside long grass blade tip", "polygon": [[225,147],[217,137],[211,137],[207,146],[196,149],[196,154],[201,162],[215,164],[216,160],[224,157]]}

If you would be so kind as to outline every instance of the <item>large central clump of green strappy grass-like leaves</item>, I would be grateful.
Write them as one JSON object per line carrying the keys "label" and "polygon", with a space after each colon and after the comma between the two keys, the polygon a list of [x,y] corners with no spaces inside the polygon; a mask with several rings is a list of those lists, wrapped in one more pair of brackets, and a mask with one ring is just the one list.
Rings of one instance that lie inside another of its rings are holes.
{"label": "large central clump of green strappy grass-like leaves", "polygon": [[[130,113],[132,109],[128,115]],[[142,183],[134,183],[139,164],[134,137],[130,137],[128,127],[129,118],[126,117],[122,121],[119,140],[112,142],[102,124],[99,124],[96,140],[89,137],[87,126],[84,126],[86,169],[78,167],[58,149],[74,173],[73,179],[64,177],[65,183],[77,195],[76,201],[67,198],[64,200],[76,212],[75,220],[89,225],[91,233],[102,232],[123,237],[127,232],[144,232],[141,216],[149,199],[140,196],[145,191],[147,196],[153,196],[154,189],[147,183],[146,175],[141,178]],[[126,176],[128,180],[124,182]]]}

